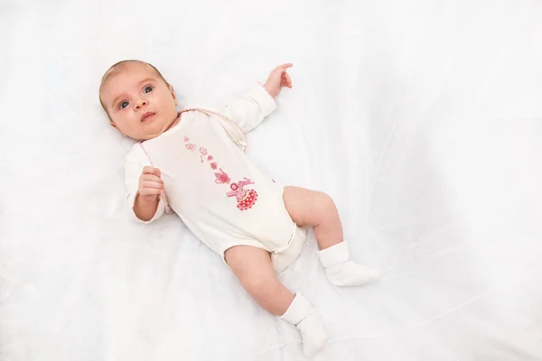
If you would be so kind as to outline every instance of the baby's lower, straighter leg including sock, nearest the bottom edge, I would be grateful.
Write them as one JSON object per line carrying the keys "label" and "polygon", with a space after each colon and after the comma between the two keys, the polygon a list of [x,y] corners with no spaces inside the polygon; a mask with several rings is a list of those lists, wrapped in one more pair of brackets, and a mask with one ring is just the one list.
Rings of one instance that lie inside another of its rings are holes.
{"label": "baby's lower, straighter leg including sock, nearest the bottom edge", "polygon": [[313,356],[323,347],[327,336],[322,318],[299,292],[294,294],[278,282],[265,250],[236,245],[224,256],[248,294],[264,309],[293,323],[301,331],[306,356]]}

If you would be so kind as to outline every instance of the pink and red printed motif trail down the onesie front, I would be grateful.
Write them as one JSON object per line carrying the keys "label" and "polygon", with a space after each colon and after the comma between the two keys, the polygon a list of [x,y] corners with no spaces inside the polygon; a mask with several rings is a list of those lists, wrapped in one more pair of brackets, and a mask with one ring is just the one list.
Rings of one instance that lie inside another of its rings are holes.
{"label": "pink and red printed motif trail down the onesie front", "polygon": [[[184,143],[186,144],[186,149],[188,151],[195,151],[196,144],[188,143],[190,142],[190,138],[188,136],[184,136]],[[214,173],[215,176],[215,183],[217,184],[229,184],[231,179],[228,176],[228,173],[225,171],[222,171],[221,168],[219,168],[218,162],[211,162],[214,160],[212,155],[208,155],[207,149],[200,147],[200,160],[203,162],[203,157],[207,155],[207,162],[210,162],[210,168],[213,171],[216,171],[217,168],[219,169],[218,172]],[[247,210],[252,208],[257,200],[257,191],[256,190],[245,190],[245,186],[249,184],[254,184],[252,180],[249,180],[247,177],[244,177],[243,180],[239,180],[237,183],[232,182],[229,184],[230,191],[226,193],[228,197],[235,197],[238,202],[238,209],[239,210]]]}

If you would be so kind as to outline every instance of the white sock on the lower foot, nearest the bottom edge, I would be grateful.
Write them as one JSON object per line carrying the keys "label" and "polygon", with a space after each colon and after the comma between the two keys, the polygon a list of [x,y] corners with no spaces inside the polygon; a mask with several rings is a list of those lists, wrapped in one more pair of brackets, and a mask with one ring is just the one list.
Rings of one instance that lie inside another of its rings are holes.
{"label": "white sock on the lower foot, nearest the bottom edge", "polygon": [[280,316],[280,319],[294,324],[301,331],[305,356],[313,357],[322,349],[327,340],[322,317],[301,293],[295,293],[294,301],[285,311],[285,314]]}

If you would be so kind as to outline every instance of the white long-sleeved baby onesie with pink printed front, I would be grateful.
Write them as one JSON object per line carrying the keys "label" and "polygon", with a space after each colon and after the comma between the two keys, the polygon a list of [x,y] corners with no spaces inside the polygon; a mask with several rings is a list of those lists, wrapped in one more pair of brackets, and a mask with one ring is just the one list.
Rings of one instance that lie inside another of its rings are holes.
{"label": "white long-sleeved baby onesie with pink printed front", "polygon": [[[135,220],[139,176],[146,165],[160,169],[165,197],[154,218],[171,206],[195,236],[222,257],[235,245],[271,253],[276,272],[301,252],[306,229],[297,227],[283,200],[284,187],[262,173],[244,153],[243,132],[276,109],[260,85],[220,109],[194,108],[164,134],[136,143],[126,155],[126,208]],[[241,149],[242,148],[242,149]]]}

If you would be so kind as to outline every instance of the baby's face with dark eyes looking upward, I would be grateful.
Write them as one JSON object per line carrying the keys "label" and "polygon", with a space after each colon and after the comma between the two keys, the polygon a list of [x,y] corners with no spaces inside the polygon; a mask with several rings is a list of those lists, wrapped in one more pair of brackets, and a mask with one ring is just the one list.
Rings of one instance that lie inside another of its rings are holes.
{"label": "baby's face with dark eyes looking upward", "polygon": [[145,64],[132,64],[111,74],[101,100],[113,125],[138,141],[164,133],[177,118],[173,88]]}

